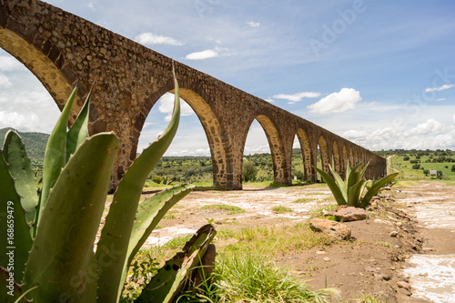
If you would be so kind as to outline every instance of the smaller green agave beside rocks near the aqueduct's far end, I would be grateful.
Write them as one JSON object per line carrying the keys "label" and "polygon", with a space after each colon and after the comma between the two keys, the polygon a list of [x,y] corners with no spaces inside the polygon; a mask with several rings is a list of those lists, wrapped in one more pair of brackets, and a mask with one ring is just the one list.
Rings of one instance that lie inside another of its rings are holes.
{"label": "smaller green agave beside rocks near the aqueduct's far end", "polygon": [[360,162],[357,166],[348,167],[346,169],[346,181],[343,181],[339,174],[329,166],[332,177],[328,173],[323,171],[318,167],[313,167],[318,171],[319,175],[326,181],[329,186],[333,197],[337,200],[338,205],[348,205],[349,207],[360,207],[365,208],[369,205],[369,201],[378,193],[381,187],[384,187],[391,180],[399,175],[399,173],[390,174],[379,181],[373,182],[371,187],[367,190],[365,195],[362,197],[364,189],[368,183],[367,180],[363,178],[365,171],[369,163],[362,168],[362,163]]}

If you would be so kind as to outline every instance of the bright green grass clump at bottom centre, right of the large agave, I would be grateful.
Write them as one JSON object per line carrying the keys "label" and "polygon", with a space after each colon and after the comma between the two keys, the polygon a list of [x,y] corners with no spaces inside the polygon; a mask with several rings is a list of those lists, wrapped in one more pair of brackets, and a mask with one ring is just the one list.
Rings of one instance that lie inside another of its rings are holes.
{"label": "bright green grass clump at bottom centre, right of the large agave", "polygon": [[198,294],[187,293],[177,302],[197,302],[201,298],[205,302],[329,302],[330,289],[310,290],[305,282],[278,268],[260,251],[218,257],[212,276],[215,288],[206,284]]}

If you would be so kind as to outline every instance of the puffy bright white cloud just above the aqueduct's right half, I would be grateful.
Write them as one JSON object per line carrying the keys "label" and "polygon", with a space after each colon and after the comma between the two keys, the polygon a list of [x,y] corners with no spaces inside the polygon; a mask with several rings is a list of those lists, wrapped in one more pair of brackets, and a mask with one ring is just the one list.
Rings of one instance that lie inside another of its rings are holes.
{"label": "puffy bright white cloud just above the aqueduct's right half", "polygon": [[338,93],[325,96],[307,108],[311,113],[341,113],[356,108],[356,103],[361,99],[359,91],[354,88],[341,88]]}

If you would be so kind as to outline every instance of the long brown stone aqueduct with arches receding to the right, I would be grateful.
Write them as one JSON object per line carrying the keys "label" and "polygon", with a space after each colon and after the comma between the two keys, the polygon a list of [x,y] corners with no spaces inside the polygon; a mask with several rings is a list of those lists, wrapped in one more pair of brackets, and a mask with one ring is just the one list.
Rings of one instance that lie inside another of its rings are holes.
{"label": "long brown stone aqueduct with arches receding to the right", "polygon": [[[113,185],[136,157],[148,112],[173,90],[172,60],[121,35],[38,0],[0,0],[0,47],[22,62],[62,109],[80,76],[76,111],[96,80],[90,132],[113,131],[120,152]],[[257,119],[270,146],[275,181],[291,183],[292,145],[297,135],[309,180],[322,167],[344,175],[346,164],[370,161],[367,177],[383,176],[386,161],[328,130],[175,62],[180,95],[197,114],[207,135],[214,184],[242,188],[242,161],[251,123]]]}

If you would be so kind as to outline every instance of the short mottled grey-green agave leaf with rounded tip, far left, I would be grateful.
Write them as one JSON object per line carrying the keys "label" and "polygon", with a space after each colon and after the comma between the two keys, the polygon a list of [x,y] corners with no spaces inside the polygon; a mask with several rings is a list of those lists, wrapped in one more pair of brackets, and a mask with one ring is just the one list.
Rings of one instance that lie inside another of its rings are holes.
{"label": "short mottled grey-green agave leaf with rounded tip, far left", "polygon": [[25,210],[25,219],[29,226],[35,219],[38,194],[36,192],[35,174],[27,157],[21,137],[13,130],[6,133],[4,157],[9,164],[11,177],[15,179],[15,190],[21,197],[21,205]]}

